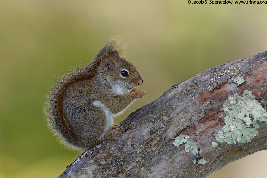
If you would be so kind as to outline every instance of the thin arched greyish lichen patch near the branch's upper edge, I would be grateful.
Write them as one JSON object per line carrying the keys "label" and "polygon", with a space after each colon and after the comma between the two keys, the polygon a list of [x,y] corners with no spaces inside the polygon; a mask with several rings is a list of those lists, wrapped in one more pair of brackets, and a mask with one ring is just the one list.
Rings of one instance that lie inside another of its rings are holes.
{"label": "thin arched greyish lichen patch near the branch's upper edge", "polygon": [[209,92],[212,91],[213,87],[218,84],[219,79],[225,74],[229,75],[230,77],[233,77],[233,81],[236,82],[238,85],[243,83],[245,80],[243,79],[242,75],[239,74],[241,68],[242,68],[241,66],[234,65],[232,67],[228,68],[222,67],[218,69],[214,73],[216,76],[211,79],[212,80],[211,85],[207,88]]}

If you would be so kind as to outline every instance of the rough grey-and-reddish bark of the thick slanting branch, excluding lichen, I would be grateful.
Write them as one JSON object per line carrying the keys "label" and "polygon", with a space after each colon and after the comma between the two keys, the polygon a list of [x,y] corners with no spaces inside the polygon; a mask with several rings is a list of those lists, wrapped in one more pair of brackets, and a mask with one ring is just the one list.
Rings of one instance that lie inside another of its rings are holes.
{"label": "rough grey-and-reddish bark of the thick slanting branch, excluding lichen", "polygon": [[[206,177],[230,162],[265,150],[265,122],[258,122],[258,134],[247,143],[221,143],[214,135],[225,125],[223,104],[235,93],[242,96],[245,90],[252,91],[266,109],[266,79],[267,52],[263,52],[177,83],[122,121],[125,132],[118,141],[107,140],[88,149],[59,177]],[[185,143],[174,146],[179,135],[197,141],[202,152],[186,152]],[[218,146],[212,147],[212,142]],[[200,158],[206,160],[204,165],[193,163]]]}

